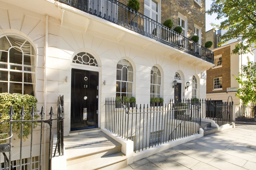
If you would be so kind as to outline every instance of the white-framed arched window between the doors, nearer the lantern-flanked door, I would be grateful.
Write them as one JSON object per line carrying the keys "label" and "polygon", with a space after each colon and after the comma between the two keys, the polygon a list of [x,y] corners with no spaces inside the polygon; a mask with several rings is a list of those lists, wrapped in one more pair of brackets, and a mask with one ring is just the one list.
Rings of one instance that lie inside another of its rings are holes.
{"label": "white-framed arched window between the doors, nearer the lantern-flanked door", "polygon": [[160,98],[161,73],[160,70],[153,66],[150,73],[150,98]]}

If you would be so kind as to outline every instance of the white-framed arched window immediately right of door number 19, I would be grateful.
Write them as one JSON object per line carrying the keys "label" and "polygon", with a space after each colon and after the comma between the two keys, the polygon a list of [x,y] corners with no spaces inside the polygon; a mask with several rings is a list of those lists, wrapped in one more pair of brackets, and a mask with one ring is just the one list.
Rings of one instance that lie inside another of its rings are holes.
{"label": "white-framed arched window immediately right of door number 19", "polygon": [[120,60],[116,66],[116,97],[132,97],[133,69],[127,60]]}

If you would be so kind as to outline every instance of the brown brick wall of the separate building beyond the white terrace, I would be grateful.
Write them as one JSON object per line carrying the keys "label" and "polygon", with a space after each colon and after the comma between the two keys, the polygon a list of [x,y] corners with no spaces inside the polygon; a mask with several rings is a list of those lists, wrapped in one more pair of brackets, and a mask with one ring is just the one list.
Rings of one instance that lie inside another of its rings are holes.
{"label": "brown brick wall of the separate building beyond the white terrace", "polygon": [[[230,46],[214,50],[214,56],[222,54],[222,67],[206,71],[206,92],[226,91],[230,87]],[[213,90],[213,78],[222,77],[222,90]]]}

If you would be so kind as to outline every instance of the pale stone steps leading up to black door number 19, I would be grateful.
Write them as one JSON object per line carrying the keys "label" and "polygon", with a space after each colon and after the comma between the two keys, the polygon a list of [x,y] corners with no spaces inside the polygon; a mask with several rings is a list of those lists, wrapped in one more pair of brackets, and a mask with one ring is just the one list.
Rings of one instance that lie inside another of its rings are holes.
{"label": "pale stone steps leading up to black door number 19", "polygon": [[64,137],[67,170],[120,169],[127,166],[121,144],[103,132]]}

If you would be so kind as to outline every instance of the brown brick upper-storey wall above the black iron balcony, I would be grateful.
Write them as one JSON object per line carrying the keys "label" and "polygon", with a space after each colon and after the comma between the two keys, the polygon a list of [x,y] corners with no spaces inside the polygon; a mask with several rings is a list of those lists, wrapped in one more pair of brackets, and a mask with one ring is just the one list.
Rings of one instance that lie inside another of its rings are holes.
{"label": "brown brick upper-storey wall above the black iron balcony", "polygon": [[[128,4],[129,0],[119,0],[121,3]],[[139,0],[139,12],[144,14],[144,0]],[[205,0],[201,0],[202,8],[194,0],[162,0],[161,1],[161,24],[166,19],[172,19],[173,27],[178,26],[178,12],[188,19],[188,38],[194,35],[194,24],[201,27],[202,45],[205,43]]]}

